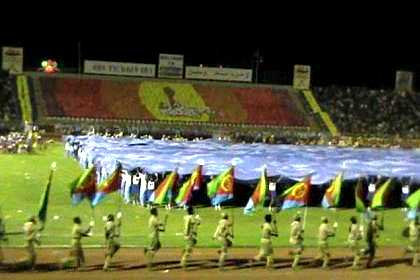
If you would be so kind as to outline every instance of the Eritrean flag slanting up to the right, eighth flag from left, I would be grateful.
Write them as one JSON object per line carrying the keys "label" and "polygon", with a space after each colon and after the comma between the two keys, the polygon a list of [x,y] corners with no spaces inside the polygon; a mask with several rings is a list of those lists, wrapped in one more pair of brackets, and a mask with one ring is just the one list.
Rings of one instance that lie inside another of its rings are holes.
{"label": "Eritrean flag slanting up to the right, eighth flag from left", "polygon": [[311,189],[311,177],[306,176],[301,182],[296,183],[287,190],[285,190],[282,196],[285,196],[283,201],[282,210],[302,207],[308,204],[309,193]]}

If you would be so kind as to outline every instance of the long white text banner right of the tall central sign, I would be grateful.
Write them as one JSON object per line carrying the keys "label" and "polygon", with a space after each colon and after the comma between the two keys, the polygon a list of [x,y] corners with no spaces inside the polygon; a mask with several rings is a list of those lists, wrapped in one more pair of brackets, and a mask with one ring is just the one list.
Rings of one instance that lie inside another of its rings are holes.
{"label": "long white text banner right of the tall central sign", "polygon": [[251,69],[196,67],[185,68],[186,79],[252,82]]}

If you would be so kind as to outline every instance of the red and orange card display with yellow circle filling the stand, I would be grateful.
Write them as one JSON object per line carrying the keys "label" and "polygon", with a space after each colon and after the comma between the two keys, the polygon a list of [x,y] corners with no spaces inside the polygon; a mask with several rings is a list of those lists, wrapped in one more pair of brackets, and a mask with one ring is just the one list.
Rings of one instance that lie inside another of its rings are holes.
{"label": "red and orange card display with yellow circle filling the stand", "polygon": [[288,87],[33,76],[45,117],[309,127]]}

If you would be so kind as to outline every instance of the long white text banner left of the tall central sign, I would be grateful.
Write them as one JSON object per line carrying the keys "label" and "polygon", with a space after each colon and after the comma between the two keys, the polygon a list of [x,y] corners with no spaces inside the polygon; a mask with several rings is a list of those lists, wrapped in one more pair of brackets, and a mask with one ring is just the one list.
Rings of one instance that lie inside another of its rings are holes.
{"label": "long white text banner left of the tall central sign", "polygon": [[156,65],[85,60],[84,72],[88,74],[155,77]]}

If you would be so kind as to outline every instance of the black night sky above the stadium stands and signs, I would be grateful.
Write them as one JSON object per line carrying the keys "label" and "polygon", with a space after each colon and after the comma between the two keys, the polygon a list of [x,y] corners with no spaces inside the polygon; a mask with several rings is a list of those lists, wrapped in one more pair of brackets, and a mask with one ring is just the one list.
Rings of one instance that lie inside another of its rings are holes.
{"label": "black night sky above the stadium stands and signs", "polygon": [[77,68],[80,42],[82,59],[157,64],[159,53],[174,53],[184,54],[185,65],[243,68],[254,66],[259,49],[261,73],[281,73],[288,83],[294,64],[312,66],[314,85],[392,88],[398,69],[420,76],[417,16],[396,21],[382,12],[373,11],[372,17],[372,10],[357,10],[296,17],[278,7],[268,14],[256,8],[240,14],[216,9],[210,15],[159,11],[159,17],[137,11],[133,17],[125,16],[126,7],[124,16],[64,15],[58,29],[37,21],[29,30],[2,30],[0,46],[23,46],[26,68],[39,67],[45,58]]}

